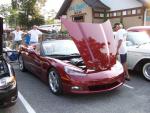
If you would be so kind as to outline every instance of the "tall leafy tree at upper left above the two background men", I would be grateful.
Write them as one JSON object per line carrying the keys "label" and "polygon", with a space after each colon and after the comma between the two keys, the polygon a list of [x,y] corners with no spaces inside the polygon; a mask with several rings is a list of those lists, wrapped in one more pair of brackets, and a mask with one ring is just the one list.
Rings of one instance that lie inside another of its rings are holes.
{"label": "tall leafy tree at upper left above the two background men", "polygon": [[[46,0],[12,0],[12,8],[18,10],[15,16],[17,23],[24,27],[30,28],[34,24],[44,24],[44,17],[40,14],[40,9],[44,6]],[[15,2],[18,1],[18,2]],[[16,3],[16,4],[15,4]],[[19,6],[19,7],[18,7]],[[13,18],[13,17],[12,17]]]}

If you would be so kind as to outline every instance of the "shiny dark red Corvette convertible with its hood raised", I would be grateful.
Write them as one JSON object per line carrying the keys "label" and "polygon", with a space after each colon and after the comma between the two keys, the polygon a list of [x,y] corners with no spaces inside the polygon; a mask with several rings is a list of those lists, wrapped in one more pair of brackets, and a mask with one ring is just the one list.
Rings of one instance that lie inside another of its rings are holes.
{"label": "shiny dark red Corvette convertible with its hood raised", "polygon": [[20,70],[29,70],[47,82],[56,95],[96,93],[121,86],[124,73],[116,61],[110,23],[62,21],[72,40],[51,39],[36,46],[21,47]]}

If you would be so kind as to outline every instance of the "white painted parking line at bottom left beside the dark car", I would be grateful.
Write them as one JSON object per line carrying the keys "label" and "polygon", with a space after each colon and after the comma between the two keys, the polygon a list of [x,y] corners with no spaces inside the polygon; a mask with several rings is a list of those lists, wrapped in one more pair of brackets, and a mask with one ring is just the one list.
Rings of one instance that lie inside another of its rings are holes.
{"label": "white painted parking line at bottom left beside the dark car", "polygon": [[28,113],[36,113],[35,110],[31,107],[31,105],[27,102],[27,100],[23,97],[23,95],[18,91],[18,97],[21,100],[22,104],[28,111]]}

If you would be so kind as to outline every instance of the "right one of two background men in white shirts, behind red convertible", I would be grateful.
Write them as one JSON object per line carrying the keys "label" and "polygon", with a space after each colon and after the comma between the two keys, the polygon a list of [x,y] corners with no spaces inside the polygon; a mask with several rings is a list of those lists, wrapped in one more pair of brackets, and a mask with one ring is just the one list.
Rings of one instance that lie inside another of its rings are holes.
{"label": "right one of two background men in white shirts, behind red convertible", "polygon": [[39,36],[42,35],[42,32],[37,29],[37,26],[34,25],[33,29],[30,30],[28,33],[31,35],[31,37],[30,37],[30,44],[38,43]]}

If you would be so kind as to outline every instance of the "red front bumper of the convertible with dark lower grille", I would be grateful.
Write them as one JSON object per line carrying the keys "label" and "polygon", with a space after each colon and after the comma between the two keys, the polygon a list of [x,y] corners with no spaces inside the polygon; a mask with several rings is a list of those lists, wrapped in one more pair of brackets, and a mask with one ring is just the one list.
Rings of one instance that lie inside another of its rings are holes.
{"label": "red front bumper of the convertible with dark lower grille", "polygon": [[81,80],[71,83],[63,83],[64,92],[76,94],[99,93],[111,91],[123,85],[125,81],[124,73],[117,77],[107,79]]}

